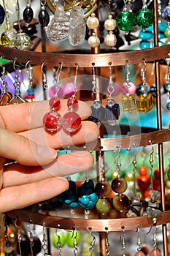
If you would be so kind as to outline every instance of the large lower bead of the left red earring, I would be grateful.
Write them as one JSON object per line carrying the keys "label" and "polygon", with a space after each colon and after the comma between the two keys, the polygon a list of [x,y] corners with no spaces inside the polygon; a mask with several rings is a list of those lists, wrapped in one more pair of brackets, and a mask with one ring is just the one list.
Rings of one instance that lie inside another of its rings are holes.
{"label": "large lower bead of the left red earring", "polygon": [[43,118],[43,124],[45,129],[47,129],[49,132],[56,132],[59,128],[61,128],[63,121],[58,112],[49,111]]}

